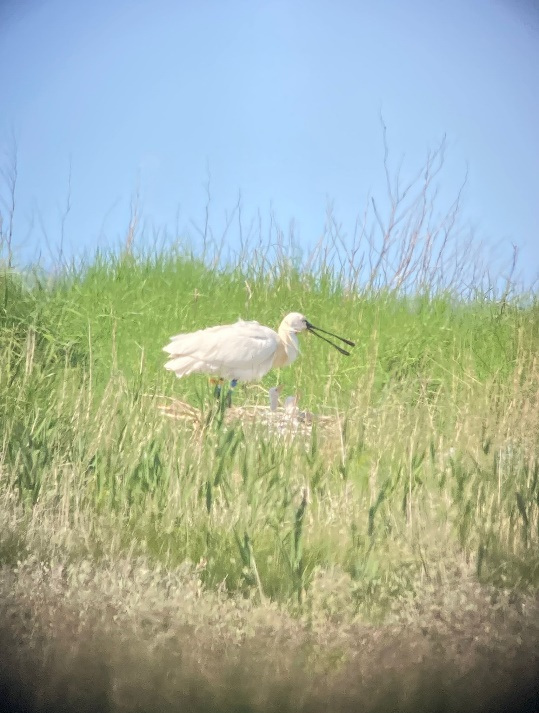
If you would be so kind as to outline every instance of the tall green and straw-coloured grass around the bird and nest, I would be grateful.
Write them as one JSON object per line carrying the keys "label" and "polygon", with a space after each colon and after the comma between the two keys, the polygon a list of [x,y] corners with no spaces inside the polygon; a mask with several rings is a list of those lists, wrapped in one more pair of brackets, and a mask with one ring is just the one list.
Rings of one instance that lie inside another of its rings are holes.
{"label": "tall green and straw-coloured grass around the bird and nest", "polygon": [[[374,618],[455,559],[537,585],[535,298],[352,289],[328,266],[243,258],[101,254],[47,281],[0,275],[0,558],[191,560],[206,586],[291,611],[337,568]],[[354,339],[352,356],[302,336],[294,365],[235,402],[279,382],[330,429],[285,441],[212,418],[208,380],[163,369],[172,334],[292,310]],[[164,417],[171,396],[206,427]]]}

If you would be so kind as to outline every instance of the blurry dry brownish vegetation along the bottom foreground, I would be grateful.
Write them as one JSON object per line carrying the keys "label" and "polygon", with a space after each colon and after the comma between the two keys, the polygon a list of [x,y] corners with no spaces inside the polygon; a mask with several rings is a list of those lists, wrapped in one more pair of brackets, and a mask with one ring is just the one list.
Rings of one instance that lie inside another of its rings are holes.
{"label": "blurry dry brownish vegetation along the bottom foreground", "polygon": [[[10,711],[536,711],[539,600],[455,569],[384,624],[320,574],[296,618],[145,560],[0,574]],[[333,598],[333,613],[317,601]]]}

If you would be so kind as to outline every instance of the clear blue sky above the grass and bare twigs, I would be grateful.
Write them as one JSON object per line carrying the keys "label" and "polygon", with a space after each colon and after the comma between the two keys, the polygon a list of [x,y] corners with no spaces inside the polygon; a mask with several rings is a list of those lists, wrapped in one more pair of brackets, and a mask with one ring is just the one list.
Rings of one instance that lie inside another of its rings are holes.
{"label": "clear blue sky above the grass and bare twigs", "polygon": [[[447,136],[441,206],[539,273],[539,10],[533,0],[3,0],[0,146],[18,146],[20,260],[125,236],[217,235],[241,191],[298,240],[331,202],[350,235],[384,206],[380,113],[406,179]],[[6,166],[4,159],[4,167]],[[5,186],[4,186],[5,191]],[[237,231],[227,240],[234,246]]]}

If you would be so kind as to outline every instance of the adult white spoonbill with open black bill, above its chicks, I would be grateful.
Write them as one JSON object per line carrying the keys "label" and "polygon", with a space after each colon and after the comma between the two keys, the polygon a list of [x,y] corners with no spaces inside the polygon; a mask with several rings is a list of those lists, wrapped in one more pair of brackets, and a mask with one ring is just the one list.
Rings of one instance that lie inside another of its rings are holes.
{"label": "adult white spoonbill with open black bill, above its chicks", "polygon": [[199,329],[171,337],[163,351],[170,354],[165,369],[182,377],[193,373],[211,374],[238,381],[261,379],[270,369],[291,364],[299,354],[298,333],[312,332],[331,344],[341,354],[350,352],[317,332],[329,334],[353,347],[354,342],[325,329],[315,327],[299,312],[287,314],[275,332],[258,322],[240,319],[235,324]]}

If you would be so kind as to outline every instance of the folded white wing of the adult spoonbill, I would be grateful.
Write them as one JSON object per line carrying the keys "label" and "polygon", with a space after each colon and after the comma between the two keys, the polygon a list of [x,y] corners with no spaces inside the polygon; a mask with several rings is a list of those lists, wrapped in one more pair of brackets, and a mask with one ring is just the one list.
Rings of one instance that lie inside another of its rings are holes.
{"label": "folded white wing of the adult spoonbill", "polygon": [[193,372],[249,380],[271,368],[279,336],[258,322],[239,321],[171,338],[165,367],[178,376]]}

